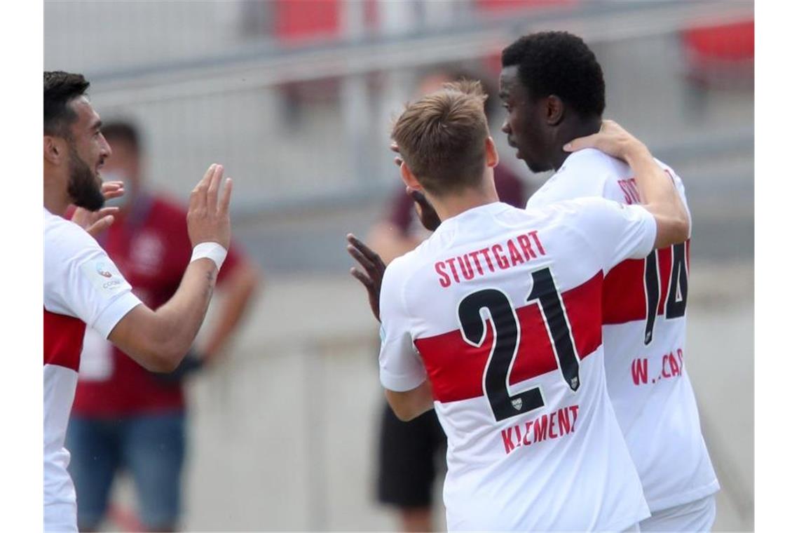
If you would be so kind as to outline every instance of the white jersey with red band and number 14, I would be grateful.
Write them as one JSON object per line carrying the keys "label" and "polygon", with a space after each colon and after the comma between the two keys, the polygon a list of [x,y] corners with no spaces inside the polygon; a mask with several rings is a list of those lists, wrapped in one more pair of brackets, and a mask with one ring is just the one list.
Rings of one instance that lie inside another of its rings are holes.
{"label": "white jersey with red band and number 14", "polygon": [[[688,208],[682,180],[660,161]],[[527,202],[579,197],[639,204],[628,165],[596,149],[572,153]],[[651,511],[718,491],[686,369],[690,240],[624,261],[603,288],[607,389]]]}

